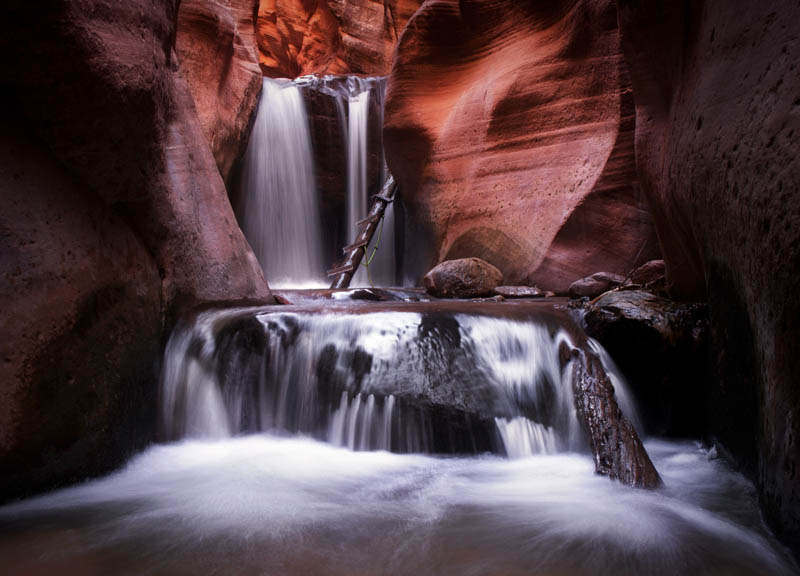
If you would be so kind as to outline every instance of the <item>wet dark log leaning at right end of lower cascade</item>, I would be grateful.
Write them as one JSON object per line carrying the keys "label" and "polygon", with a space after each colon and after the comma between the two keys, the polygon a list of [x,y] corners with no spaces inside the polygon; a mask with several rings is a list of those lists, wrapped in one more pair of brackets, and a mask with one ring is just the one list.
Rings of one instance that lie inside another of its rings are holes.
{"label": "wet dark log leaning at right end of lower cascade", "polygon": [[657,488],[661,477],[631,423],[622,415],[600,359],[578,353],[573,391],[598,474],[636,488]]}

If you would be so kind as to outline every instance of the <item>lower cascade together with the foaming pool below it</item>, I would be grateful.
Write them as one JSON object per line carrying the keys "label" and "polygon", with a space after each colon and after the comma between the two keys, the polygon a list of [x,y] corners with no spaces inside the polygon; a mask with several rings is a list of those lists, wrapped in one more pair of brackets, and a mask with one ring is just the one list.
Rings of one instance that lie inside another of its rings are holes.
{"label": "lower cascade together with the foaming pool below it", "polygon": [[0,508],[3,573],[796,574],[716,450],[648,441],[652,491],[594,474],[584,338],[541,304],[201,313],[165,355],[176,441]]}

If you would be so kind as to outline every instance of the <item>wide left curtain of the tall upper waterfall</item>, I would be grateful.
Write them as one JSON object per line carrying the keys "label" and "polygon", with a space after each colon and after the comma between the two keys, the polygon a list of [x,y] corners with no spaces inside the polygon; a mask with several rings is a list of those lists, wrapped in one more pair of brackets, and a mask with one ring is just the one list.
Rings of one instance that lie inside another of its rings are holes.
{"label": "wide left curtain of the tall upper waterfall", "polygon": [[308,117],[289,81],[264,78],[236,212],[273,287],[324,285]]}

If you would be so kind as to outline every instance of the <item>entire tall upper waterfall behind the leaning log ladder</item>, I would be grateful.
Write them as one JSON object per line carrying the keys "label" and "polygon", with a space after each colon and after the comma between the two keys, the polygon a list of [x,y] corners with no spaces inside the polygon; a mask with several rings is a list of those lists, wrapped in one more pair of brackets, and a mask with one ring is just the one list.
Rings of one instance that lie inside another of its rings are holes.
{"label": "entire tall upper waterfall behind the leaning log ladder", "polygon": [[[325,286],[325,271],[341,258],[341,249],[356,238],[356,223],[366,216],[370,196],[380,190],[388,175],[380,130],[385,90],[386,79],[381,77],[264,79],[242,165],[236,212],[271,286]],[[332,101],[332,128],[314,125],[324,124],[328,111],[309,93]],[[315,143],[315,131],[331,129],[341,135],[341,145],[326,141],[330,149],[316,149],[324,144]],[[334,155],[330,163],[343,176],[341,191],[318,180],[316,161],[325,154]],[[321,210],[322,195],[339,193],[344,198],[344,227],[337,235],[322,225]],[[380,235],[369,246],[371,254],[380,241],[369,275],[362,266],[352,286],[368,286],[370,279],[379,286],[397,283],[401,274],[396,269],[394,222],[394,207],[390,206]],[[330,246],[335,250],[326,250]]]}

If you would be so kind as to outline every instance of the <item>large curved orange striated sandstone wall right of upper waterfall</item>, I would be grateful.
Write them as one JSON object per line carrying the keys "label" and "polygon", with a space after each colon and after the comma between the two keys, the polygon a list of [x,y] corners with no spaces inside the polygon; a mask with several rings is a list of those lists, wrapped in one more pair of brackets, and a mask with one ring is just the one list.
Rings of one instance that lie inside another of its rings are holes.
{"label": "large curved orange striated sandstone wall right of upper waterfall", "polygon": [[417,272],[477,256],[565,293],[658,255],[614,2],[437,0],[400,40],[384,136]]}

